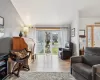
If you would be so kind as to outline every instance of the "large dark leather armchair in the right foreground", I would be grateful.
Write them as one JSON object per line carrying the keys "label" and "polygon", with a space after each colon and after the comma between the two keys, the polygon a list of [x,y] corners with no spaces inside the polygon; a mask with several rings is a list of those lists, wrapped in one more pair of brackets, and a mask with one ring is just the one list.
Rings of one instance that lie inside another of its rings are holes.
{"label": "large dark leather armchair in the right foreground", "polygon": [[71,57],[71,74],[77,80],[100,80],[100,48],[87,47],[83,56]]}

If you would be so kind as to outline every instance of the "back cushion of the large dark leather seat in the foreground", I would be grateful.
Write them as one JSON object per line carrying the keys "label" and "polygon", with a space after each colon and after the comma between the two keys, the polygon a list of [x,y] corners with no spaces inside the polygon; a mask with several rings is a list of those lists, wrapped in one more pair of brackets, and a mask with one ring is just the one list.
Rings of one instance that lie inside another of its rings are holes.
{"label": "back cushion of the large dark leather seat in the foreground", "polygon": [[100,48],[99,47],[87,47],[84,53],[84,63],[90,66],[100,64]]}

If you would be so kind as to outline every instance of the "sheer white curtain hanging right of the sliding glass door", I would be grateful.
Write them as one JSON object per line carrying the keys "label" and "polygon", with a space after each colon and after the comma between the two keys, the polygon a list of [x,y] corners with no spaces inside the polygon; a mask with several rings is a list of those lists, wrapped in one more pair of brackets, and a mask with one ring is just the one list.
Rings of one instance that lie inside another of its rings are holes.
{"label": "sheer white curtain hanging right of the sliding glass door", "polygon": [[67,40],[67,27],[60,28],[60,47],[65,47]]}

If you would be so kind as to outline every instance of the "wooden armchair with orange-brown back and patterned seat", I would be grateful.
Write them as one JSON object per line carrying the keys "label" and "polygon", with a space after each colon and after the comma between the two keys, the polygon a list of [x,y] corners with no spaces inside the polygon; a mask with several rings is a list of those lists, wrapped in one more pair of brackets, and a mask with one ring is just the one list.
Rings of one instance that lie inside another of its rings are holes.
{"label": "wooden armchair with orange-brown back and patterned seat", "polygon": [[28,46],[24,39],[21,37],[12,38],[12,51],[10,52],[10,58],[15,62],[11,74],[19,77],[19,72],[22,68],[30,70],[28,65],[28,58],[30,56]]}

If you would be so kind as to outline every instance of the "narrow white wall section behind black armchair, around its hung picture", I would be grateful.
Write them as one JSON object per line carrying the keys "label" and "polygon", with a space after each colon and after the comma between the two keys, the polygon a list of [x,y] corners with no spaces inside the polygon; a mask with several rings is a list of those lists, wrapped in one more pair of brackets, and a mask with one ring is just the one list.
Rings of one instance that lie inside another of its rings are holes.
{"label": "narrow white wall section behind black armchair, around its hung picture", "polygon": [[71,40],[73,42],[73,55],[78,56],[79,55],[79,13],[76,12],[74,15],[74,19],[72,22],[71,28],[75,28],[75,37],[72,37]]}

